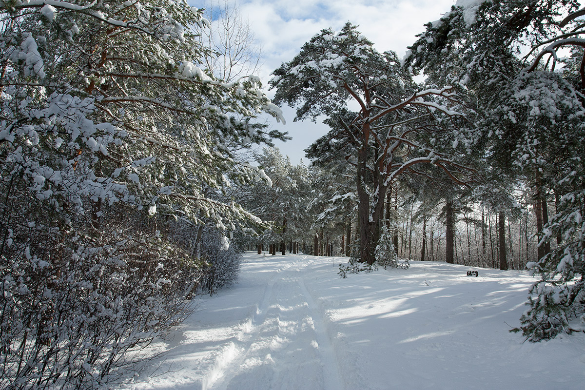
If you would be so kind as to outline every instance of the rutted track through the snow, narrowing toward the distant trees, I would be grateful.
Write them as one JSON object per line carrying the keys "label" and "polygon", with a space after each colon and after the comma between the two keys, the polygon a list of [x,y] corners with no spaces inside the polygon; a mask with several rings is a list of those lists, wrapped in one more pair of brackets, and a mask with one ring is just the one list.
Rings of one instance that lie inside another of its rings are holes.
{"label": "rutted track through the snow, narrowing toward the distant trees", "polygon": [[324,321],[302,280],[309,264],[296,261],[277,271],[239,342],[219,357],[203,390],[342,388]]}

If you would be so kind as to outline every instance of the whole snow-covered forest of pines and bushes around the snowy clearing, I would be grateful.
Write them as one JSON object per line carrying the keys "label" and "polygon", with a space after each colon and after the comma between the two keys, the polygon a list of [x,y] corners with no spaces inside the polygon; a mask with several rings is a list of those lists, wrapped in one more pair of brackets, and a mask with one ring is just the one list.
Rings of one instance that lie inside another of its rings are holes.
{"label": "whole snow-covered forest of pines and bushes around the snowy clearing", "polygon": [[[115,382],[246,250],[528,269],[513,331],[584,332],[579,8],[458,1],[404,58],[347,22],[263,83],[228,8],[2,1],[0,386]],[[284,105],[326,118],[309,165],[274,147]]]}

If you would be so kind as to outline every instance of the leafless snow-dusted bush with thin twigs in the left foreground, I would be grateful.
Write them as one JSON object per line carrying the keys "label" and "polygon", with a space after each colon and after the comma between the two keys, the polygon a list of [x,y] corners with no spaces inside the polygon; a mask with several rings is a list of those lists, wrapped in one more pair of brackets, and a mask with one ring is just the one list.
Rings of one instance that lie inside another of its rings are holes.
{"label": "leafless snow-dusted bush with thin twigs in the left foreground", "polygon": [[12,243],[22,255],[0,269],[0,387],[112,384],[137,370],[130,351],[191,313],[199,264],[159,232],[108,233],[38,229],[29,243]]}

